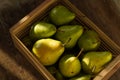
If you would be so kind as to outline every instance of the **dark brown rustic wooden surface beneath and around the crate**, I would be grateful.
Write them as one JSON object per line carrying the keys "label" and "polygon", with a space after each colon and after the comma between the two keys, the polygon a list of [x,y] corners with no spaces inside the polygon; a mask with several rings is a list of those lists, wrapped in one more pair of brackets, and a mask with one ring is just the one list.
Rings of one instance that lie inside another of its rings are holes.
{"label": "dark brown rustic wooden surface beneath and around the crate", "polygon": [[[9,28],[44,0],[0,0],[0,80],[44,80],[14,47]],[[120,0],[70,0],[120,46]],[[118,70],[110,80],[120,80]]]}

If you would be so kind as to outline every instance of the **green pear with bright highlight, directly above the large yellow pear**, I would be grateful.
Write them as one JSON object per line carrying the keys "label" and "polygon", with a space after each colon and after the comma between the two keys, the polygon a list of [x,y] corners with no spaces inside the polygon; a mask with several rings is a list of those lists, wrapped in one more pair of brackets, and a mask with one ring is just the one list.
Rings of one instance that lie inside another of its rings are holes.
{"label": "green pear with bright highlight, directly above the large yellow pear", "polygon": [[51,37],[56,33],[56,27],[47,22],[37,22],[30,29],[31,39],[41,39]]}

